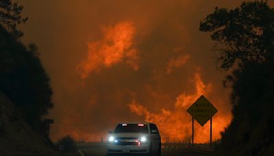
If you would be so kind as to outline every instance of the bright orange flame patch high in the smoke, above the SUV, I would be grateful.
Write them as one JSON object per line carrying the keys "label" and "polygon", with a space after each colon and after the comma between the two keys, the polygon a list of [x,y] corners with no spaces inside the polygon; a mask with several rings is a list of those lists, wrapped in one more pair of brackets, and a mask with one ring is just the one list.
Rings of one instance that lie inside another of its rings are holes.
{"label": "bright orange flame patch high in the smoke, above the SUV", "polygon": [[132,22],[121,22],[114,27],[103,28],[102,40],[88,43],[88,56],[86,60],[78,64],[77,73],[82,79],[86,79],[92,72],[96,72],[101,66],[110,67],[123,58],[127,65],[138,70],[138,55],[132,48],[132,39],[136,29]]}

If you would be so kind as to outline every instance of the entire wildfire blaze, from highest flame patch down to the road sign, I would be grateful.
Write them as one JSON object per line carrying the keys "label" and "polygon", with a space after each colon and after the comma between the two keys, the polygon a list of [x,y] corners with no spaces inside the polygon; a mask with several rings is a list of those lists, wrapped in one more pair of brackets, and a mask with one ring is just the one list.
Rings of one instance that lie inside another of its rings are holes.
{"label": "entire wildfire blaze, from highest flame patch down to the road sign", "polygon": [[[216,98],[218,96],[216,92],[218,91],[214,90],[212,83],[206,84],[202,81],[201,69],[197,69],[196,65],[194,79],[191,79],[189,82],[187,82],[188,78],[182,80],[184,85],[191,86],[194,91],[189,93],[187,88],[182,88],[182,90],[186,90],[182,93],[177,88],[176,94],[178,96],[175,103],[171,102],[173,103],[173,108],[166,108],[164,105],[164,103],[169,103],[176,97],[169,91],[165,91],[165,88],[169,89],[170,81],[173,81],[177,76],[182,76],[179,75],[180,73],[177,73],[175,68],[180,69],[182,66],[187,65],[190,55],[182,51],[182,49],[177,49],[174,52],[175,54],[168,55],[165,58],[166,60],[162,60],[160,55],[159,57],[153,57],[153,62],[158,61],[157,66],[146,66],[146,68],[139,70],[140,66],[143,65],[141,64],[143,62],[140,62],[142,59],[140,52],[143,51],[138,51],[138,48],[136,48],[138,45],[134,42],[135,36],[136,27],[134,27],[134,23],[123,21],[116,25],[103,27],[103,38],[88,43],[87,57],[77,64],[77,73],[81,79],[93,85],[91,85],[92,90],[88,90],[89,85],[80,86],[80,88],[86,89],[85,96],[91,102],[85,103],[84,101],[84,103],[77,106],[77,110],[81,110],[81,113],[77,112],[75,108],[67,109],[66,117],[60,122],[58,133],[54,133],[52,137],[58,138],[60,135],[68,133],[76,140],[99,141],[101,136],[105,136],[105,132],[110,130],[110,125],[114,126],[117,122],[121,122],[123,118],[125,120],[145,118],[147,122],[155,122],[158,125],[162,135],[162,142],[188,142],[192,135],[192,117],[186,112],[186,109],[203,94],[206,97],[214,97],[213,99],[209,98],[209,100],[219,109],[219,112],[213,117],[212,139],[217,140],[221,138],[220,132],[227,127],[231,120],[231,115],[222,114],[222,112],[230,110],[223,108],[222,105],[225,104],[222,99],[223,96]],[[145,52],[149,53],[151,51]],[[171,52],[162,51],[161,53]],[[158,55],[158,53],[153,53],[153,56],[155,55]],[[191,55],[191,57],[194,57],[194,55]],[[153,64],[153,62],[147,62],[146,64]],[[111,73],[112,67],[116,64],[121,65],[121,68],[119,68],[121,73],[128,67],[135,70],[135,77],[132,77],[132,74],[127,75],[130,75],[131,79],[120,77],[120,75],[117,76],[116,73],[114,75],[110,74],[111,76],[102,74]],[[103,68],[106,70],[102,70]],[[190,75],[192,74],[190,73]],[[89,75],[93,76],[89,77]],[[186,75],[183,76],[186,77]],[[105,77],[108,77],[106,81],[103,80]],[[139,81],[139,77],[142,77],[142,81]],[[167,83],[166,86],[158,83],[158,81],[163,81],[159,77],[163,77],[164,82]],[[112,79],[112,81],[108,81],[108,79]],[[155,86],[154,81],[160,86]],[[171,85],[174,87],[174,84]],[[115,86],[119,87],[115,88]],[[135,96],[135,94],[138,96]],[[212,94],[214,96],[211,96]],[[131,99],[132,102],[130,102]],[[162,102],[162,99],[164,99],[164,102]],[[142,102],[140,103],[139,101]],[[110,103],[113,105],[110,105]],[[151,105],[154,105],[156,109],[150,110]],[[108,107],[108,109],[105,110],[105,107]],[[117,115],[116,112],[119,112],[119,114]],[[127,115],[124,116],[123,114]],[[111,120],[110,116],[112,116]],[[86,124],[86,118],[95,119]],[[103,122],[101,120],[98,122],[97,118],[102,118]],[[96,126],[92,126],[91,123],[95,123]],[[78,127],[79,125],[80,127]],[[201,127],[195,122],[196,143],[209,142],[209,133],[210,125],[208,123]]]}

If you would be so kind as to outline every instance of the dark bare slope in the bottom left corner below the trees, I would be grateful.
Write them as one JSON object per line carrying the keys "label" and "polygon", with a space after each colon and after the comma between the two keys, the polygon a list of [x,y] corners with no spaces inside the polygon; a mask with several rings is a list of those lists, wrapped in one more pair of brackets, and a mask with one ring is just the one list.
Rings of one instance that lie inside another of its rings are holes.
{"label": "dark bare slope in the bottom left corner below the trees", "polygon": [[32,129],[0,92],[0,155],[58,155],[53,144]]}

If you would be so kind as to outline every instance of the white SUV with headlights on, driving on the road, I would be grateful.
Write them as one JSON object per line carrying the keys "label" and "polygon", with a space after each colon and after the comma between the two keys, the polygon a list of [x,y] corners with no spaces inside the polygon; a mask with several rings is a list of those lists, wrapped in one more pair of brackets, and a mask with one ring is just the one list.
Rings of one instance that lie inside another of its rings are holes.
{"label": "white SUV with headlights on, driving on the road", "polygon": [[149,122],[119,123],[108,136],[107,156],[120,153],[161,155],[161,137],[156,125]]}

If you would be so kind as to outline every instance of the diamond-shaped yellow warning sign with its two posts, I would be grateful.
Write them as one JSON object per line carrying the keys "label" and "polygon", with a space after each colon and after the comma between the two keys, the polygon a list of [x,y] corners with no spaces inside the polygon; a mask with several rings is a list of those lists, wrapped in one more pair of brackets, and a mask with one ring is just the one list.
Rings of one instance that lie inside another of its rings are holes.
{"label": "diamond-shaped yellow warning sign with its two posts", "polygon": [[201,126],[205,125],[210,120],[210,146],[212,145],[212,116],[218,110],[206,99],[205,96],[200,96],[195,103],[193,103],[187,110],[192,116],[192,146],[194,146],[194,119],[199,122]]}

